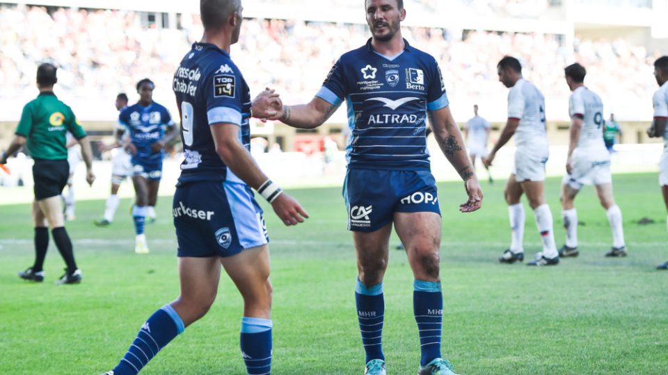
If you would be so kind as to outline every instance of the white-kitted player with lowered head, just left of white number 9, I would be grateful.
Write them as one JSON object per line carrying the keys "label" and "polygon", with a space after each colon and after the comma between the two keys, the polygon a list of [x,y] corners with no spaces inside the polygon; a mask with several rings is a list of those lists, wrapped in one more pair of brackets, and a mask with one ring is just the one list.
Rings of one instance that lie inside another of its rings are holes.
{"label": "white-kitted player with lowered head, just left of white number 9", "polygon": [[522,77],[522,65],[516,58],[502,58],[497,71],[499,81],[511,89],[508,94],[508,121],[484,163],[491,165],[497,151],[513,135],[517,146],[515,166],[504,191],[512,230],[511,245],[499,261],[515,263],[524,260],[522,242],[525,215],[520,198],[522,194],[527,194],[543,240],[543,251],[536,254],[536,260],[527,265],[557,265],[559,253],[552,230],[552,212],[545,200],[545,163],[550,153],[545,128],[545,98],[533,83]]}

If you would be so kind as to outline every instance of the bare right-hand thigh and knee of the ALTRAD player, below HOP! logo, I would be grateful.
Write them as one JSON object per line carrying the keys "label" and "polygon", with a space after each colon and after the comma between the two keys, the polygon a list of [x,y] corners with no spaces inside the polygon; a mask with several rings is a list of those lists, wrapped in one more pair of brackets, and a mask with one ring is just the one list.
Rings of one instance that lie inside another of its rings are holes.
{"label": "bare right-hand thigh and knee of the ALTRAD player, below HOP! logo", "polygon": [[433,212],[395,213],[395,231],[406,247],[408,263],[419,280],[437,280],[441,217]]}

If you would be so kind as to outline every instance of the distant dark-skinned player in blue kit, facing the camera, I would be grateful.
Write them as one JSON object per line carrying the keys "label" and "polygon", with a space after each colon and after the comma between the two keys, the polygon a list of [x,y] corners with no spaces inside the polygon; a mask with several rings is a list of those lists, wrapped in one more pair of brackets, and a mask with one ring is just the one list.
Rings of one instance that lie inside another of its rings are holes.
{"label": "distant dark-skinned player in blue kit, facing the camera", "polygon": [[[136,196],[132,206],[136,233],[134,251],[139,254],[148,253],[144,222],[157,201],[164,148],[178,133],[167,108],[153,101],[154,88],[148,78],[139,81],[139,101],[118,115],[119,124],[129,132],[130,142],[126,147],[132,153],[132,183]],[[120,143],[124,132],[117,134],[117,142]]]}

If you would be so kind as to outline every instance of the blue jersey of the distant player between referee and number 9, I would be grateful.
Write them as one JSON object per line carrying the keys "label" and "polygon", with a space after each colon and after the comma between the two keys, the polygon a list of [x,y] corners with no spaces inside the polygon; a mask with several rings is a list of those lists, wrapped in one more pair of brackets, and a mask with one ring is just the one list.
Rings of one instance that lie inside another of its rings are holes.
{"label": "blue jersey of the distant player between referee and number 9", "polygon": [[148,107],[136,103],[120,111],[118,123],[129,131],[130,142],[137,149],[133,163],[162,160],[164,151],[154,153],[151,144],[165,136],[167,126],[174,126],[167,108],[156,102],[150,103]]}

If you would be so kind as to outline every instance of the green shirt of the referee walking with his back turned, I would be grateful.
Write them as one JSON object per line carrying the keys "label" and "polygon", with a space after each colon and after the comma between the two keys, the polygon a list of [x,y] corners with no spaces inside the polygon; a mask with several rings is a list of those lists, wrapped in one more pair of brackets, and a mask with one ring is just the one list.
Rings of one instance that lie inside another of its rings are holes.
{"label": "green shirt of the referee walking with his back turned", "polygon": [[74,138],[86,137],[72,108],[58,100],[53,92],[41,92],[23,108],[16,134],[27,138],[27,147],[35,159],[67,159],[67,140],[70,131]]}

